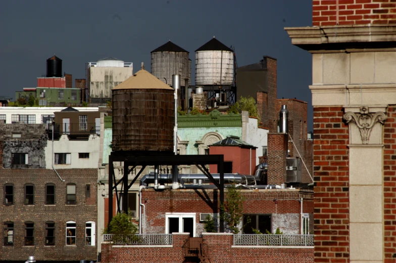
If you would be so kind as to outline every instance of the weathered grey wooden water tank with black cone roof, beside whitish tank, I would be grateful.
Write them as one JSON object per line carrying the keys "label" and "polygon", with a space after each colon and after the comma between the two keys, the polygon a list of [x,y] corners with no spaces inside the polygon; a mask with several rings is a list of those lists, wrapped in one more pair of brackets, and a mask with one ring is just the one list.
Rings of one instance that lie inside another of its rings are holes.
{"label": "weathered grey wooden water tank with black cone roof, beside whitish tank", "polygon": [[172,75],[180,75],[181,85],[184,79],[191,84],[191,60],[189,52],[168,41],[151,51],[151,74],[165,84],[172,86]]}

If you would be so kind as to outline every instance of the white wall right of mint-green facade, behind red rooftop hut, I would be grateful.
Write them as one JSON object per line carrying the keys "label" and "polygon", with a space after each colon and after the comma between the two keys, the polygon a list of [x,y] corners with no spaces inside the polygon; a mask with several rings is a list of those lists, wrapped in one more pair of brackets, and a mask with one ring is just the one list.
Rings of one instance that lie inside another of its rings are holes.
{"label": "white wall right of mint-green facade, behind red rooftop hut", "polygon": [[263,155],[263,146],[267,146],[267,129],[258,127],[258,120],[249,118],[246,123],[246,142],[258,147],[256,149],[256,165],[259,164],[259,156]]}

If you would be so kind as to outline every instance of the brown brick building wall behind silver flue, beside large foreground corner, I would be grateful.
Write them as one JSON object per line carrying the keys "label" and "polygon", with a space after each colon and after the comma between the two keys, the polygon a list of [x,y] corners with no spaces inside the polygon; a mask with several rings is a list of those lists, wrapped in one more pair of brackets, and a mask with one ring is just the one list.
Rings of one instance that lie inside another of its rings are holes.
{"label": "brown brick building wall behind silver flue, beside large foreground corner", "polygon": [[[312,160],[313,160],[313,141],[307,139],[307,123],[308,123],[308,104],[305,101],[289,98],[277,99],[276,111],[279,112],[282,105],[287,106],[289,111],[288,118],[288,132],[290,133],[296,148],[298,148],[309,173],[312,175]],[[288,150],[290,157],[299,157],[290,138],[288,139]],[[302,165],[302,183],[312,183],[309,173]]]}

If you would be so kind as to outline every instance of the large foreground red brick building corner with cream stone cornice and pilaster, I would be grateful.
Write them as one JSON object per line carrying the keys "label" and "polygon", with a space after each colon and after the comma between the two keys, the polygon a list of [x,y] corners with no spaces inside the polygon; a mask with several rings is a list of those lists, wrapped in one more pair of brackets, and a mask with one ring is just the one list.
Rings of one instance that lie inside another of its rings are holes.
{"label": "large foreground red brick building corner with cream stone cornice and pilaster", "polygon": [[396,262],[395,8],[313,1],[285,29],[312,54],[316,262]]}

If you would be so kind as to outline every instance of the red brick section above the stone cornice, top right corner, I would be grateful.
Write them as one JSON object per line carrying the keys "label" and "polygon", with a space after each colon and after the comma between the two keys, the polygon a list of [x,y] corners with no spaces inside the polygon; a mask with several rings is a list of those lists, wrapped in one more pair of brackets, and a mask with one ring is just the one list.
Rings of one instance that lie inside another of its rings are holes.
{"label": "red brick section above the stone cornice, top right corner", "polygon": [[393,0],[314,0],[312,5],[313,26],[396,23]]}

